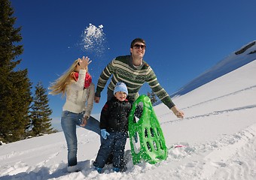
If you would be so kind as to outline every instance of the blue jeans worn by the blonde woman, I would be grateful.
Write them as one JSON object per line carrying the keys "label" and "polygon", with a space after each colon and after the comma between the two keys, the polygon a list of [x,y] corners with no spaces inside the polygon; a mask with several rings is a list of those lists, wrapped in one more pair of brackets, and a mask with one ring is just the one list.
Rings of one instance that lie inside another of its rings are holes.
{"label": "blue jeans worn by the blonde woman", "polygon": [[[80,126],[83,118],[84,113],[72,113],[69,111],[62,111],[61,126],[68,145],[69,166],[75,166],[78,163],[78,138],[76,134],[76,126]],[[93,132],[98,133],[100,136],[99,121],[92,116],[87,119],[87,124],[84,128],[86,128],[87,130],[92,130]]]}

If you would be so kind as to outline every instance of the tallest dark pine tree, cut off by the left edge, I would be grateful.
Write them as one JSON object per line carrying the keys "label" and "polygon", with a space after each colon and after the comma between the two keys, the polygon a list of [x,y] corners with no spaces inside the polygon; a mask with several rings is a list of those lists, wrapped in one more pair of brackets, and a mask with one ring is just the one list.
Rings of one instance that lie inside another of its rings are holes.
{"label": "tallest dark pine tree, cut off by the left edge", "polygon": [[17,69],[23,53],[21,28],[16,21],[9,0],[0,1],[0,140],[13,142],[26,138],[31,104],[31,86],[28,71]]}

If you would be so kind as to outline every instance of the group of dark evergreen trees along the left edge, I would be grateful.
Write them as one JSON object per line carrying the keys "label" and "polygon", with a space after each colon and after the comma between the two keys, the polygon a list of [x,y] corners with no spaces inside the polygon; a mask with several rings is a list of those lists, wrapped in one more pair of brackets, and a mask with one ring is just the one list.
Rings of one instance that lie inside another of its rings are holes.
{"label": "group of dark evergreen trees along the left edge", "polygon": [[55,133],[47,90],[41,82],[32,83],[28,69],[21,70],[23,53],[21,27],[14,28],[16,17],[9,0],[0,1],[0,141],[14,142],[31,136]]}

